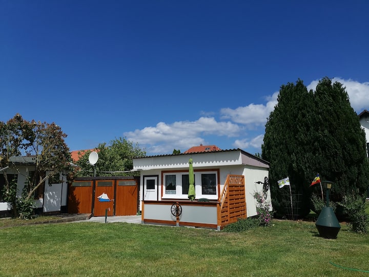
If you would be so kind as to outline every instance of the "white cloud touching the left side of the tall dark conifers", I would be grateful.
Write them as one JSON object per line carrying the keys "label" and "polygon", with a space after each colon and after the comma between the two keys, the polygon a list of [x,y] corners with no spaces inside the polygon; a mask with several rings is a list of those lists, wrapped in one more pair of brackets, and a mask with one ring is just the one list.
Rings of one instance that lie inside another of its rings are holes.
{"label": "white cloud touching the left side of the tall dark conifers", "polygon": [[236,109],[223,108],[220,110],[221,118],[229,118],[231,121],[252,126],[261,126],[267,122],[269,114],[274,110],[277,104],[277,97],[279,92],[268,96],[267,104],[250,104],[245,107],[238,107]]}

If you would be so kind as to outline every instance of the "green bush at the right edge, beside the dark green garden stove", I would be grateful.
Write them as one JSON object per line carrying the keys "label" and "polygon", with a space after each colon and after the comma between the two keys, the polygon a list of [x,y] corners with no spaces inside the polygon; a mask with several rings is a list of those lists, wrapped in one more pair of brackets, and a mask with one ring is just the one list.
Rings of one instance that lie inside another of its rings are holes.
{"label": "green bush at the right edge, beside the dark green garden stove", "polygon": [[356,233],[367,233],[369,216],[365,212],[365,196],[354,191],[350,195],[343,196],[342,206],[350,220],[351,229]]}

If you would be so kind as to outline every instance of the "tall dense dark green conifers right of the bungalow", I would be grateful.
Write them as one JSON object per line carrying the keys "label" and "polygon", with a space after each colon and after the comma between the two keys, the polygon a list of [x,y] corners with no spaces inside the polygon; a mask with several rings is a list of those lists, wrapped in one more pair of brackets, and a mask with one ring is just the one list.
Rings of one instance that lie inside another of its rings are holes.
{"label": "tall dense dark green conifers right of the bungalow", "polygon": [[311,193],[318,189],[310,184],[317,173],[334,182],[336,201],[353,190],[364,193],[369,177],[365,134],[342,84],[323,78],[315,92],[308,92],[301,80],[281,86],[278,104],[265,125],[262,159],[271,163],[277,216],[288,213],[284,187],[277,186],[286,176],[293,194],[299,195],[294,204],[300,216],[310,211]]}

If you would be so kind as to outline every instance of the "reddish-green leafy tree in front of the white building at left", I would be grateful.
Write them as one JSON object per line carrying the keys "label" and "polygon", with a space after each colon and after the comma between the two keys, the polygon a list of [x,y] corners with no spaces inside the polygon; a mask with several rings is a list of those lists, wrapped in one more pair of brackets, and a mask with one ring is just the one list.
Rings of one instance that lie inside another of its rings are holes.
{"label": "reddish-green leafy tree in front of the white building at left", "polygon": [[72,177],[70,152],[64,141],[66,136],[55,123],[29,122],[19,114],[7,123],[0,123],[0,167],[9,166],[17,170],[12,157],[22,159],[25,154],[32,156],[34,161],[28,165],[34,174],[25,176],[27,184],[20,197],[17,184],[9,182],[7,170],[4,170],[4,195],[12,204],[14,216],[30,215],[28,211],[33,210],[33,194],[47,179],[49,184],[60,183],[63,171],[68,172],[68,179]]}

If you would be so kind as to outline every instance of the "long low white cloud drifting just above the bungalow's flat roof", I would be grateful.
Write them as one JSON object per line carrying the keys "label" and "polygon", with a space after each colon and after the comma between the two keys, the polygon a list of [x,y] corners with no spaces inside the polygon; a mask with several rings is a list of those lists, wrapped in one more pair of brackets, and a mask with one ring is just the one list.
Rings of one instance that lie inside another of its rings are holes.
{"label": "long low white cloud drifting just above the bungalow's flat roof", "polygon": [[147,145],[150,153],[172,153],[173,149],[207,144],[202,135],[238,136],[242,129],[231,122],[217,122],[214,117],[200,117],[197,121],[179,121],[173,124],[159,122],[155,127],[146,127],[126,132],[127,140]]}

